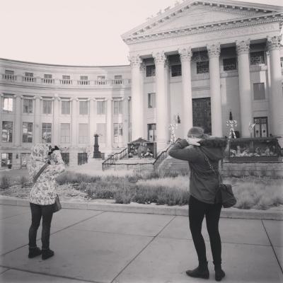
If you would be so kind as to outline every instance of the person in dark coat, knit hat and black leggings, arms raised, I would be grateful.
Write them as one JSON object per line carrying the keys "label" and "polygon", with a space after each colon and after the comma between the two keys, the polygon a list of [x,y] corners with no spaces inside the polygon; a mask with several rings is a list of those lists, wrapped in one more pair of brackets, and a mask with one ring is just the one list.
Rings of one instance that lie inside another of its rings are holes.
{"label": "person in dark coat, knit hat and black leggings, arms raised", "polygon": [[221,203],[216,202],[216,192],[219,188],[217,173],[219,173],[219,161],[224,157],[225,147],[225,139],[208,137],[202,128],[192,127],[187,139],[176,142],[169,151],[170,156],[188,161],[190,166],[190,231],[199,260],[197,268],[186,271],[190,277],[209,278],[206,248],[202,236],[204,216],[212,248],[215,279],[221,281],[225,276],[221,268],[219,234]]}

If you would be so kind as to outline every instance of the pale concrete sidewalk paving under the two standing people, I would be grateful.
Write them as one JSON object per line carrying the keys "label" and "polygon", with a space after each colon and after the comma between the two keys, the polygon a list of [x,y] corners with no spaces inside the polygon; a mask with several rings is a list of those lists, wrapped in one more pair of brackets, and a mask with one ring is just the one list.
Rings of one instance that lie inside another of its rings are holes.
{"label": "pale concrete sidewalk paving under the two standing people", "polygon": [[[210,279],[185,274],[197,265],[187,216],[62,209],[48,260],[28,259],[29,207],[0,205],[0,226],[0,282],[215,282],[205,221]],[[222,282],[283,282],[282,231],[283,221],[221,218]]]}

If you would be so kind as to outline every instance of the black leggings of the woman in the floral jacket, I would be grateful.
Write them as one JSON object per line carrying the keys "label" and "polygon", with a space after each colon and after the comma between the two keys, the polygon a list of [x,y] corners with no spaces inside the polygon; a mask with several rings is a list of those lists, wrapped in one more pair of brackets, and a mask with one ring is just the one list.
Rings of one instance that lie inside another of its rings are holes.
{"label": "black leggings of the woman in the floral jacket", "polygon": [[42,217],[42,250],[49,249],[49,240],[50,240],[50,226],[52,221],[54,205],[40,205],[30,203],[31,211],[31,226],[28,232],[28,246],[29,248],[36,248],[36,234],[37,229],[40,226],[40,220]]}

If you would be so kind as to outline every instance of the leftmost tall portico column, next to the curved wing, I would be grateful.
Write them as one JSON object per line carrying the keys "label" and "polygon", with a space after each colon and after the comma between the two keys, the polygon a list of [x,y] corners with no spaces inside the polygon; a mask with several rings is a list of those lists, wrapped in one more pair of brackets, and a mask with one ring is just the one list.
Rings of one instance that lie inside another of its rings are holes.
{"label": "leftmost tall portico column, next to the curved wing", "polygon": [[144,137],[144,103],[141,93],[141,58],[135,55],[129,58],[132,71],[132,140]]}

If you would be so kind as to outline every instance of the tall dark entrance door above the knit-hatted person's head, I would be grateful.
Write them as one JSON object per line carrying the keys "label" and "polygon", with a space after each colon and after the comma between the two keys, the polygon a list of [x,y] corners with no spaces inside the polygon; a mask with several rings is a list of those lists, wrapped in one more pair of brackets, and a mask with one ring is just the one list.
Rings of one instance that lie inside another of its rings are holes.
{"label": "tall dark entrance door above the knit-hatted person's head", "polygon": [[192,99],[192,125],[202,127],[206,134],[212,134],[212,110],[210,98]]}

